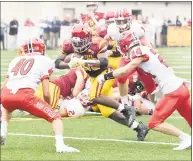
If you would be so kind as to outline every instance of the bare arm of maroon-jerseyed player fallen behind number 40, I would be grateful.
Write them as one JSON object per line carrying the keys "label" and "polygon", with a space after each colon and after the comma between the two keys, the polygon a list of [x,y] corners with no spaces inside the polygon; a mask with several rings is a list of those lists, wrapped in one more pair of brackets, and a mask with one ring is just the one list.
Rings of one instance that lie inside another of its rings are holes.
{"label": "bare arm of maroon-jerseyed player fallen behind number 40", "polygon": [[80,70],[76,70],[76,84],[74,86],[74,89],[72,90],[72,95],[76,97],[84,88],[84,75]]}

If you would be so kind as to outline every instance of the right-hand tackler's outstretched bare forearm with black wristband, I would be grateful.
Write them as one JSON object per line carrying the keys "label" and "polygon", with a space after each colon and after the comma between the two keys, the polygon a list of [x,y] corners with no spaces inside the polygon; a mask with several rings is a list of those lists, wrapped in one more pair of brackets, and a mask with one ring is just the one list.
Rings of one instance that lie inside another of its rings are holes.
{"label": "right-hand tackler's outstretched bare forearm with black wristband", "polygon": [[133,59],[130,63],[128,63],[127,65],[118,68],[116,70],[114,70],[113,72],[104,74],[104,79],[108,80],[108,79],[114,79],[117,77],[121,77],[124,76],[125,74],[132,73],[133,70],[135,70],[143,61],[146,61],[147,58],[145,57],[138,57]]}

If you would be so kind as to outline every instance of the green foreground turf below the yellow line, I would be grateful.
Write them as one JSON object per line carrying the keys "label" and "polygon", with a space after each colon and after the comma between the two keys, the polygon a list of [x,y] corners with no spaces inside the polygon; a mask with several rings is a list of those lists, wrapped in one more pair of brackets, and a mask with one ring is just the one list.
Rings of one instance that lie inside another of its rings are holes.
{"label": "green foreground turf below the yellow line", "polygon": [[[147,122],[148,117],[140,117]],[[183,119],[168,119],[185,132],[190,130]],[[105,118],[64,119],[65,136],[136,140],[135,132]],[[52,135],[51,125],[44,120],[12,121],[9,132]],[[173,145],[123,143],[65,139],[65,143],[81,150],[76,154],[56,154],[54,138],[8,136],[7,146],[2,148],[2,160],[190,160],[191,150],[172,151]],[[151,131],[146,141],[172,142],[178,140]]]}

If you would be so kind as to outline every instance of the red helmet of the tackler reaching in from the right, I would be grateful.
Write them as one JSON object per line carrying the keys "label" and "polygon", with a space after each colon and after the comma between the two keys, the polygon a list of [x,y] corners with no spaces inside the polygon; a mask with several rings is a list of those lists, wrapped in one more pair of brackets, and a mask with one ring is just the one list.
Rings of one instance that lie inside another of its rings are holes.
{"label": "red helmet of the tackler reaching in from the right", "polygon": [[124,31],[121,33],[118,46],[120,51],[129,58],[130,50],[133,46],[140,45],[139,38],[136,37],[134,32]]}

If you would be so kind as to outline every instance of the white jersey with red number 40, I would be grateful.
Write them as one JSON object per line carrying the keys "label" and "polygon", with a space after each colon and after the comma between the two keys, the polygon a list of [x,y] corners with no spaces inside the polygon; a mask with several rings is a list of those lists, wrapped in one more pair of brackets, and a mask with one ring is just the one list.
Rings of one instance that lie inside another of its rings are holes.
{"label": "white jersey with red number 40", "polygon": [[18,56],[9,64],[6,87],[16,93],[21,88],[37,89],[41,80],[53,72],[54,62],[42,55]]}

